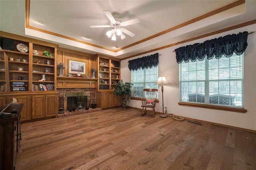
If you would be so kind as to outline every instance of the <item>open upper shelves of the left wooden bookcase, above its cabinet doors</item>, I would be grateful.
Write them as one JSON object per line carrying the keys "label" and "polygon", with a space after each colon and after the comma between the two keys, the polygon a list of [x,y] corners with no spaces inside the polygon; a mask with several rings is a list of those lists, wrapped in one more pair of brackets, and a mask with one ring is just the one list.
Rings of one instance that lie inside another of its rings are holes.
{"label": "open upper shelves of the left wooden bookcase, above its cabinet doors", "polygon": [[0,33],[0,91],[6,94],[56,92],[58,45]]}

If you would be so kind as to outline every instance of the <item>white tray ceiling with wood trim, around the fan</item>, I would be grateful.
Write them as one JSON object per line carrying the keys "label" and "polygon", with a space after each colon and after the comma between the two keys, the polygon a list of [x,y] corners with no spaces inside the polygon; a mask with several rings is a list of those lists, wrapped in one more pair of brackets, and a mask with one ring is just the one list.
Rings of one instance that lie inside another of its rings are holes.
{"label": "white tray ceiling with wood trim, around the fan", "polygon": [[[233,2],[236,0],[30,0],[29,26],[44,30],[39,32],[25,28],[25,0],[0,0],[0,30],[122,59],[256,19],[256,0],[246,0],[240,6],[154,36]],[[110,24],[103,10],[118,13],[122,22],[139,18],[139,24],[124,27],[136,35],[112,41],[106,36],[112,28],[90,28],[90,25]],[[151,36],[154,38],[150,39]]]}

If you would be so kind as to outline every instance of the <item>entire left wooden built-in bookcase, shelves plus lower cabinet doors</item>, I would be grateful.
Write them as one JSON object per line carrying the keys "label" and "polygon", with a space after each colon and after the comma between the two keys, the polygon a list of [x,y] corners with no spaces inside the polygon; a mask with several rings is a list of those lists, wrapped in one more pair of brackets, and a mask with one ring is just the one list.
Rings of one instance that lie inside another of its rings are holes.
{"label": "entire left wooden built-in bookcase, shelves plus lower cabinet doors", "polygon": [[21,120],[58,114],[57,44],[0,32],[0,103],[24,103]]}

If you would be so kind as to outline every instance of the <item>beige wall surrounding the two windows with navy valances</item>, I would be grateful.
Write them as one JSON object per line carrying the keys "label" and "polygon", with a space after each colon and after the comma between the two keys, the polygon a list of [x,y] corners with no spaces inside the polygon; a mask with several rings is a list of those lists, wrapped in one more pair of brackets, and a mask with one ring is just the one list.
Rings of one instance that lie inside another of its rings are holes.
{"label": "beige wall surrounding the two windows with navy valances", "polygon": [[[175,53],[172,52],[174,49],[181,46],[204,42],[205,40],[226,36],[228,34],[238,34],[239,32],[244,31],[252,32],[255,31],[255,29],[256,24],[207,38],[202,38],[193,42],[154,51],[152,53],[147,53],[130,59],[143,57],[156,52],[161,54],[159,56],[158,65],[159,76],[165,76],[167,81],[170,83],[169,85],[164,85],[164,105],[167,105],[168,113],[202,121],[256,130],[256,33],[248,35],[248,47],[244,53],[244,107],[247,109],[245,114],[198,107],[179,106],[179,65],[176,62]],[[122,79],[125,82],[131,80],[130,71],[128,69],[128,61],[130,59],[121,61]],[[156,104],[156,111],[162,112],[161,87],[159,87],[159,91],[160,101]],[[141,101],[132,100],[129,105],[131,107],[141,108]]]}

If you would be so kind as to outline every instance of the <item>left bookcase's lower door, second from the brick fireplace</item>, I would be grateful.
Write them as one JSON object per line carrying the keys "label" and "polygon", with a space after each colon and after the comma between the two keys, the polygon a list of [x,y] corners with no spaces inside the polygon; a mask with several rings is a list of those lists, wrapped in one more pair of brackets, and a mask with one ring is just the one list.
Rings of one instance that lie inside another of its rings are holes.
{"label": "left bookcase's lower door, second from the brick fireplace", "polygon": [[45,117],[45,96],[32,96],[32,119]]}

